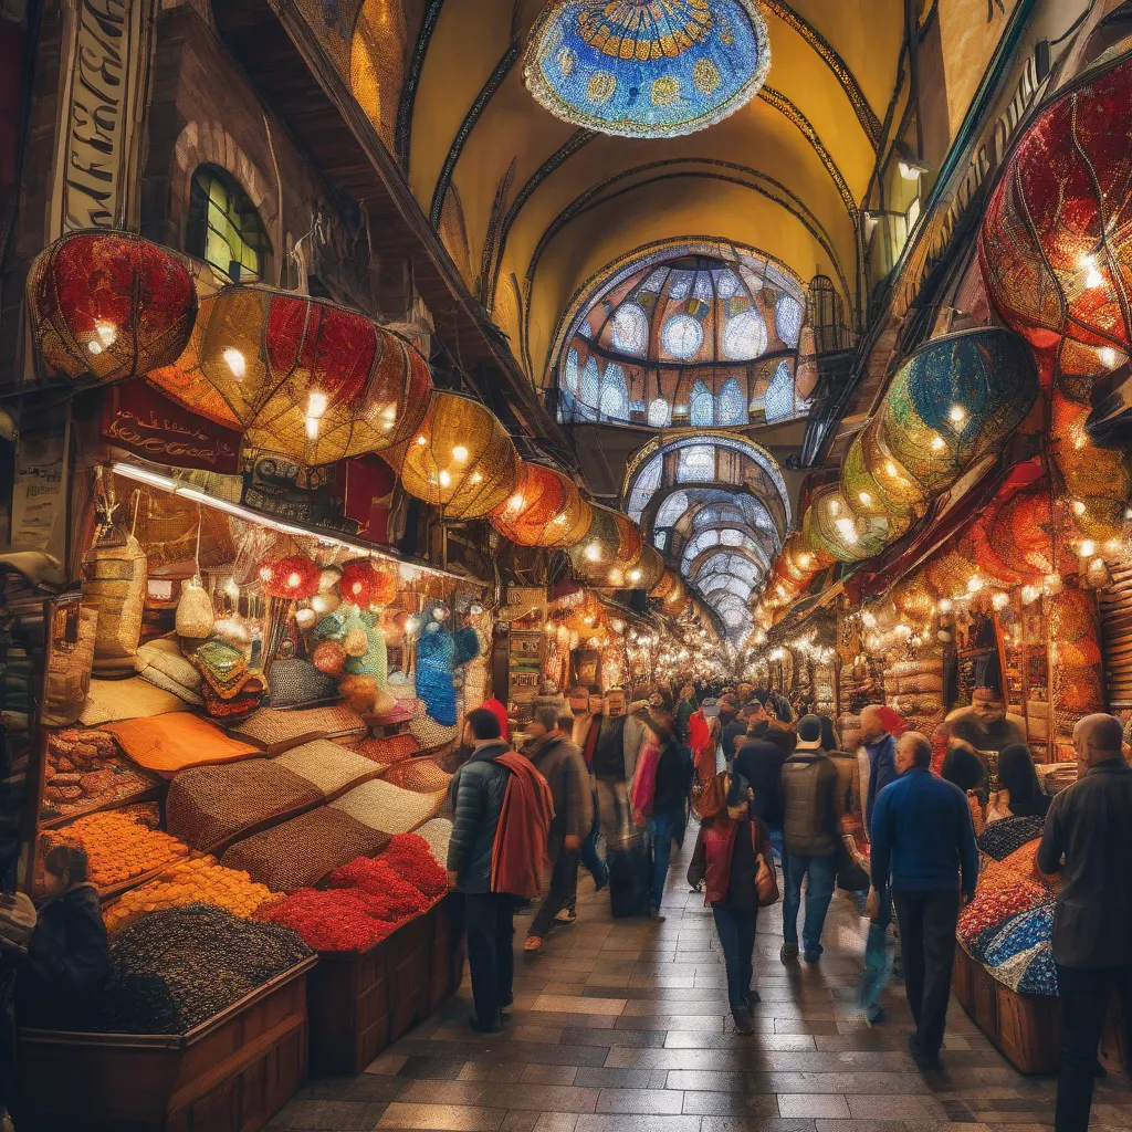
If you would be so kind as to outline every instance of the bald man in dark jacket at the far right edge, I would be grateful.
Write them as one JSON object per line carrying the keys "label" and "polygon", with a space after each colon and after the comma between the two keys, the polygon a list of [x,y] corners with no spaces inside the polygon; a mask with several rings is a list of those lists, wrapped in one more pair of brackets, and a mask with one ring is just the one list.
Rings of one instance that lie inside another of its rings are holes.
{"label": "bald man in dark jacket at the far right edge", "polygon": [[1078,780],[1050,803],[1038,848],[1038,868],[1061,869],[1054,909],[1062,1023],[1056,1132],[1088,1130],[1114,988],[1132,1049],[1132,767],[1122,743],[1112,715],[1086,715],[1077,724]]}

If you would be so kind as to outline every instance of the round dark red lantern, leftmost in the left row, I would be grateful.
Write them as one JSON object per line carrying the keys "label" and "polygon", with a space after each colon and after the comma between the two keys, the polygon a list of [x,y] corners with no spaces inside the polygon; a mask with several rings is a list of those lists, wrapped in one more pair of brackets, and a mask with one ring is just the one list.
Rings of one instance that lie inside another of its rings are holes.
{"label": "round dark red lantern, leftmost in the left row", "polygon": [[175,361],[197,314],[186,265],[128,232],[72,232],[27,276],[40,357],[72,380],[120,381]]}

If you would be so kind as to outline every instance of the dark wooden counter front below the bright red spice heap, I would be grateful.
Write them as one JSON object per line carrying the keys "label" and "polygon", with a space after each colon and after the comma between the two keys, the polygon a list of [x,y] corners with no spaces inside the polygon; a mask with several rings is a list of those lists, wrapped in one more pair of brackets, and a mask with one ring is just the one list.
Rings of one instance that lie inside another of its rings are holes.
{"label": "dark wooden counter front below the bright red spice heap", "polygon": [[311,1073],[361,1073],[455,994],[463,972],[463,903],[451,893],[369,951],[323,953],[309,985]]}

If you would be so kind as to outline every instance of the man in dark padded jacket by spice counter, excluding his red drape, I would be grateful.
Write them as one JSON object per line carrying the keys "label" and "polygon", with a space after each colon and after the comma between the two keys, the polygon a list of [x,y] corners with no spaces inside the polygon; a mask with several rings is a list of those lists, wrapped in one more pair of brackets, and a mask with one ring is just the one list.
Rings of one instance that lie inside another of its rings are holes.
{"label": "man in dark padded jacket by spice counter, excluding his red drape", "polygon": [[499,720],[486,707],[469,712],[464,743],[472,755],[448,788],[453,807],[448,886],[464,894],[468,969],[475,1004],[469,1024],[481,1034],[503,1029],[501,1012],[512,1004],[515,972],[515,898],[491,891],[491,850],[511,777],[495,761],[511,749],[500,735]]}

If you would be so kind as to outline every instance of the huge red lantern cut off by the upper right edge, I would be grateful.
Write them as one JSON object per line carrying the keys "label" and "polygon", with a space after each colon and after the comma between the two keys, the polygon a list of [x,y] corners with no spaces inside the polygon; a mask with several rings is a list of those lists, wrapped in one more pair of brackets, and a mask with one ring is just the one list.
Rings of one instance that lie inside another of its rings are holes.
{"label": "huge red lantern cut off by the upper right edge", "polygon": [[998,314],[1063,375],[1127,359],[1132,326],[1132,58],[1082,75],[1029,126],[990,197],[979,266]]}

